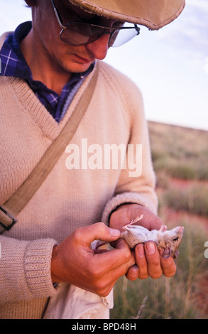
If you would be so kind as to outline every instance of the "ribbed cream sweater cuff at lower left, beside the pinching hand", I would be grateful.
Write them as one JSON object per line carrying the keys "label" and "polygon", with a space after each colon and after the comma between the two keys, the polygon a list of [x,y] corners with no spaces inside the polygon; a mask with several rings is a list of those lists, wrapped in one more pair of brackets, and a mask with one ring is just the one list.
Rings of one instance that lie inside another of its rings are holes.
{"label": "ribbed cream sweater cuff at lower left, beside the pinching hand", "polygon": [[33,296],[53,296],[56,292],[51,279],[51,256],[57,244],[53,239],[30,242],[25,252],[25,274],[28,288]]}

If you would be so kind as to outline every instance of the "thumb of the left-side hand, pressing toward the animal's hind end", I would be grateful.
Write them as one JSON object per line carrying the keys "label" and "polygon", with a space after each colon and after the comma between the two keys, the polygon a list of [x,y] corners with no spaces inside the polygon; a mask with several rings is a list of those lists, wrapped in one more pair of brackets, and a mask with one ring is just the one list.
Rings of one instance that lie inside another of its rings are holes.
{"label": "thumb of the left-side hand, pressing toward the animal's hind end", "polygon": [[82,240],[84,240],[84,243],[87,245],[94,242],[94,240],[112,242],[116,239],[119,239],[119,237],[121,236],[121,232],[119,230],[112,229],[106,226],[103,222],[96,222],[93,225],[81,227],[78,230],[80,230],[80,232],[83,232]]}

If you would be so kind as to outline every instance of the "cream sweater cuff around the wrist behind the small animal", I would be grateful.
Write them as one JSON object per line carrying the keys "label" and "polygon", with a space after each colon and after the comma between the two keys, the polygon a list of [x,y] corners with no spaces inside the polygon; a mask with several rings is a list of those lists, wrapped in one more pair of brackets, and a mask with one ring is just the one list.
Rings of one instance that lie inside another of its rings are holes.
{"label": "cream sweater cuff around the wrist behind the small animal", "polygon": [[155,203],[154,200],[150,200],[146,194],[143,193],[121,193],[116,195],[114,198],[109,200],[104,208],[102,214],[102,222],[109,226],[109,220],[112,212],[116,210],[120,205],[124,204],[138,204],[142,205],[150,210],[152,210],[155,214],[157,214],[157,206],[158,203]]}

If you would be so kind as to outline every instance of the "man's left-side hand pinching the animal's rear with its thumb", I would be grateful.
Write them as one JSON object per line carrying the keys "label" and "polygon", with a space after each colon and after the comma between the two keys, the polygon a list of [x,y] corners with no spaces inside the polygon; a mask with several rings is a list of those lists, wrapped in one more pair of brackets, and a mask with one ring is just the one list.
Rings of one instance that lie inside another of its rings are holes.
{"label": "man's left-side hand pinching the animal's rear with its thumb", "polygon": [[91,248],[94,240],[113,242],[120,236],[102,222],[80,227],[53,248],[51,276],[53,282],[67,282],[84,290],[107,296],[117,279],[135,264],[133,252],[120,239],[111,251]]}

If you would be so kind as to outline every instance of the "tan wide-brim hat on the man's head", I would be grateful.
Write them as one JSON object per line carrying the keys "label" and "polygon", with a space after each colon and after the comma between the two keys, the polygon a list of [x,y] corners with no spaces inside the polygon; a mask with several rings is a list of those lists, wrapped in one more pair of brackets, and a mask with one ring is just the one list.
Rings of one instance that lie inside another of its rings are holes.
{"label": "tan wide-brim hat on the man's head", "polygon": [[69,0],[84,11],[158,30],[180,15],[185,0]]}

